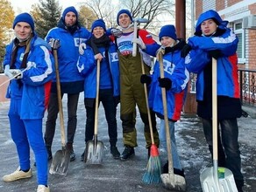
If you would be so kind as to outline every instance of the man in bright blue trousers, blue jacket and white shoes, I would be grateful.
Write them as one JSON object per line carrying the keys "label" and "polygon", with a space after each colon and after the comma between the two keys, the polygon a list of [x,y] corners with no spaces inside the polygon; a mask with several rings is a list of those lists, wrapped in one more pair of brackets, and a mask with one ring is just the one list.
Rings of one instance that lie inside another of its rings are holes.
{"label": "man in bright blue trousers, blue jacket and white shoes", "polygon": [[13,182],[32,177],[32,147],[37,162],[37,191],[50,191],[42,121],[53,79],[53,55],[51,47],[34,31],[34,22],[28,13],[15,17],[13,29],[16,38],[6,46],[4,73],[11,78],[6,97],[11,99],[8,116],[19,167],[10,175],[4,175],[3,180]]}

